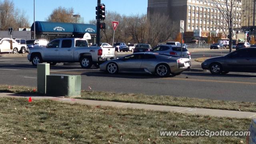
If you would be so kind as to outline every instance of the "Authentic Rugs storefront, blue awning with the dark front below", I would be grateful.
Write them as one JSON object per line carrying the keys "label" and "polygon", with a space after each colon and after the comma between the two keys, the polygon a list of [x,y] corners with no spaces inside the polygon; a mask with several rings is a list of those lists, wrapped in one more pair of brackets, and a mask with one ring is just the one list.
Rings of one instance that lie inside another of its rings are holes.
{"label": "Authentic Rugs storefront, blue awning with the dark front below", "polygon": [[[96,26],[92,24],[60,23],[60,22],[40,22],[36,21],[36,39],[84,37],[89,33],[91,39],[88,43],[96,42]],[[32,37],[34,37],[34,23],[31,26]]]}

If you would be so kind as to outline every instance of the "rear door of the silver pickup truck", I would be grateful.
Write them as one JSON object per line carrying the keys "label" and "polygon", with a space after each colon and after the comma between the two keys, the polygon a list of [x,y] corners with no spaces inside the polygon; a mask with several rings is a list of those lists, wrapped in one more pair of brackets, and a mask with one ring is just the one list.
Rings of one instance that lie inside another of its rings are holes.
{"label": "rear door of the silver pickup truck", "polygon": [[60,61],[73,61],[72,39],[63,39],[59,49]]}

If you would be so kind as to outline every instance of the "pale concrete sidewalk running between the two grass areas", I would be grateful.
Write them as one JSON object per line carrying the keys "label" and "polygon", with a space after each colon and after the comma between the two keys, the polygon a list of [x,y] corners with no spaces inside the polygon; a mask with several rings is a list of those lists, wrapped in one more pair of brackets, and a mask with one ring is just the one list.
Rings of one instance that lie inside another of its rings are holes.
{"label": "pale concrete sidewalk running between the two grass areas", "polygon": [[40,96],[29,96],[20,95],[13,93],[0,93],[0,97],[31,97],[32,100],[42,100],[50,99],[53,101],[59,101],[63,103],[78,103],[82,105],[102,105],[110,106],[116,108],[134,108],[134,109],[144,109],[144,110],[156,110],[156,111],[168,111],[168,112],[180,112],[186,114],[199,114],[199,115],[210,115],[219,117],[230,117],[230,118],[256,118],[256,112],[240,112],[234,110],[217,110],[217,109],[207,109],[207,108],[190,108],[190,107],[172,107],[172,106],[161,106],[161,105],[146,105],[146,104],[136,104],[136,103],[120,103],[120,102],[110,102],[110,101],[93,101],[93,100],[83,100],[83,99],[72,99],[64,97],[40,97]]}

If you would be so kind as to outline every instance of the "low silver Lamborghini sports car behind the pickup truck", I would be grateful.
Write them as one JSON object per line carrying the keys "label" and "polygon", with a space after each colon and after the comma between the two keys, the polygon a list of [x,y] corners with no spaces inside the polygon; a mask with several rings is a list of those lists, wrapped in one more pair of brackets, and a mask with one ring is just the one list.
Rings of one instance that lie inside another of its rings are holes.
{"label": "low silver Lamborghini sports car behind the pickup truck", "polygon": [[189,67],[190,60],[187,58],[181,59],[156,53],[134,53],[106,61],[100,65],[100,70],[110,74],[118,72],[150,73],[168,77],[170,74],[179,75]]}

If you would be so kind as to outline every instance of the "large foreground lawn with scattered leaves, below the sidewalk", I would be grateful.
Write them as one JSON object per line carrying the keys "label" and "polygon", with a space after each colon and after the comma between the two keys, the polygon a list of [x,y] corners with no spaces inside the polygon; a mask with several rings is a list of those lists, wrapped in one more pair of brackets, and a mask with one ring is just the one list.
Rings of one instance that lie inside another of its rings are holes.
{"label": "large foreground lawn with scattered leaves, below the sidewalk", "polygon": [[250,119],[0,98],[0,144],[245,144],[245,137],[160,136],[160,130],[248,130]]}

